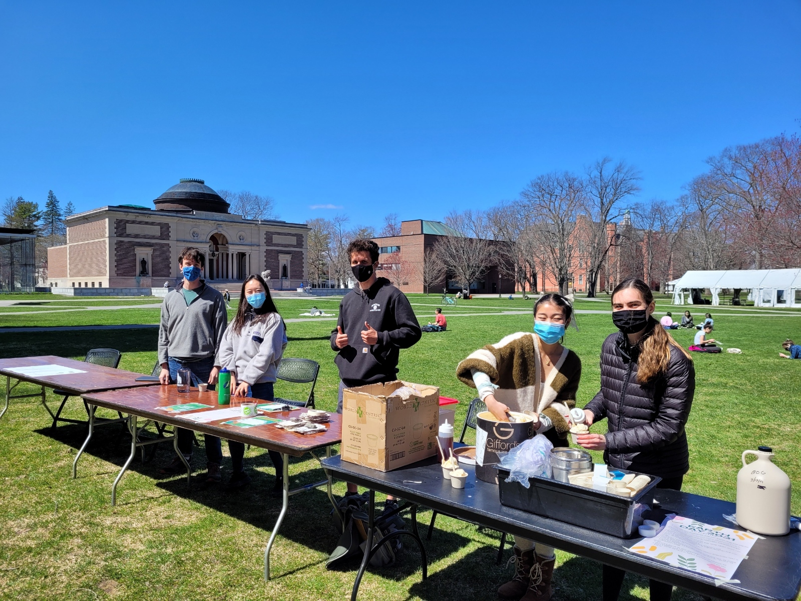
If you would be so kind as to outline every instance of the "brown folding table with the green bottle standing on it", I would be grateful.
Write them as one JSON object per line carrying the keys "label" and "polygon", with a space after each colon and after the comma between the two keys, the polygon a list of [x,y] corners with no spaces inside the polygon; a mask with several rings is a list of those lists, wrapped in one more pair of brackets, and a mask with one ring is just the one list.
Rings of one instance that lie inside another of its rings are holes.
{"label": "brown folding table with the green bottle standing on it", "polygon": [[[312,490],[320,486],[326,486],[328,498],[334,506],[334,510],[338,513],[336,500],[331,490],[331,477],[328,476],[328,474],[326,475],[326,479],[320,482],[313,482],[312,484],[299,486],[292,490],[289,489],[289,455],[301,457],[308,453],[320,462],[322,459],[320,457],[321,450],[325,450],[325,457],[330,457],[331,447],[340,443],[340,439],[342,438],[342,418],[337,413],[332,413],[331,422],[325,424],[328,428],[325,432],[320,432],[318,434],[296,434],[276,428],[272,424],[243,428],[241,426],[223,423],[231,421],[231,419],[234,419],[233,417],[226,417],[224,419],[215,420],[214,422],[192,422],[187,419],[188,415],[197,415],[198,413],[236,406],[236,400],[234,400],[233,405],[218,405],[217,393],[211,391],[201,393],[193,388],[189,393],[179,393],[176,385],[159,385],[139,389],[85,393],[82,396],[91,406],[92,413],[94,413],[95,407],[104,407],[106,409],[119,411],[120,413],[127,413],[128,415],[128,430],[131,432],[131,454],[123,465],[122,470],[120,470],[117,475],[114,484],[111,486],[112,505],[114,505],[117,500],[117,484],[123,477],[123,474],[125,474],[128,466],[131,465],[131,461],[136,454],[136,449],[139,446],[154,442],[152,439],[144,442],[139,441],[139,430],[137,430],[137,419],[139,417],[143,417],[149,421],[166,423],[173,426],[174,432],[176,427],[186,428],[187,430],[211,434],[212,436],[219,436],[219,438],[226,438],[227,440],[244,442],[246,445],[259,446],[263,449],[274,450],[280,453],[281,458],[284,460],[284,494],[281,511],[276,520],[276,526],[272,529],[267,547],[264,549],[264,579],[266,580],[270,579],[270,550],[272,549],[272,543],[275,541],[276,534],[278,534],[281,522],[284,521],[284,515],[287,513],[289,497],[293,494],[303,492],[304,490]],[[254,401],[254,399],[248,398],[247,401]],[[210,406],[208,408],[195,409],[182,413],[170,413],[164,409],[159,409],[159,407],[183,405],[186,403],[201,403]],[[288,419],[289,417],[296,417],[300,413],[304,413],[304,409],[298,409],[292,412],[270,413],[268,417]],[[91,438],[91,432],[89,437],[87,437],[87,442],[89,442],[89,438]],[[183,458],[183,454],[179,452],[178,439],[175,434],[172,436],[172,441],[175,447],[175,453],[178,454],[184,466],[187,468],[187,483],[191,483],[191,466],[189,466],[189,463]],[[84,447],[86,447],[87,442],[84,442]]]}

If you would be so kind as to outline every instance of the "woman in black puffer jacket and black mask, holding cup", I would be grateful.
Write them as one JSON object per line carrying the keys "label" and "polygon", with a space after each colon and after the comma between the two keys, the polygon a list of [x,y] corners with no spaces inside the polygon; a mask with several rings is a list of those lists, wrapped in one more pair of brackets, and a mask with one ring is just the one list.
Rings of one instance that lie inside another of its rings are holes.
{"label": "woman in black puffer jacket and black mask, holding cup", "polygon": [[[642,280],[624,280],[612,292],[610,334],[601,351],[601,391],[584,408],[586,423],[607,418],[606,434],[585,434],[578,444],[603,450],[604,461],[662,478],[659,488],[681,490],[690,469],[684,426],[695,392],[695,369],[654,313],[654,295]],[[625,572],[603,569],[603,601],[615,601]],[[670,599],[673,587],[650,581],[651,601]]]}

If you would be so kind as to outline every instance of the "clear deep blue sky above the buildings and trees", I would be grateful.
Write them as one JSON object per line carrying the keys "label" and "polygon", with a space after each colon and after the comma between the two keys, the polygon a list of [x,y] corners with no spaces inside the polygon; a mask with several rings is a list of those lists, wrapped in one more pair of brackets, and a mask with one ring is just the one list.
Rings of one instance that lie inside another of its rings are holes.
{"label": "clear deep blue sky above the buildings and trees", "polygon": [[672,200],[799,131],[801,3],[555,4],[2,2],[0,197],[152,206],[200,177],[380,226],[603,155]]}

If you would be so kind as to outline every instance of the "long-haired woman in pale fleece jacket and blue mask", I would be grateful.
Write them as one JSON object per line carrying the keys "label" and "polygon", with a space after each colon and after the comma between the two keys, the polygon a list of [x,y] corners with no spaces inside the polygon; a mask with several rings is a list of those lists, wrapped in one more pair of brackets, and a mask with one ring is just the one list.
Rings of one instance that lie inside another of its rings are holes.
{"label": "long-haired woman in pale fleece jacket and blue mask", "polygon": [[[267,284],[261,276],[248,277],[242,284],[236,317],[228,324],[219,350],[221,365],[231,372],[232,396],[247,397],[250,391],[253,398],[272,401],[275,398],[272,388],[286,346],[284,320],[278,314]],[[229,440],[228,450],[233,464],[228,488],[241,488],[251,481],[243,466],[245,446]],[[284,486],[281,456],[276,451],[268,453],[276,467],[273,491],[280,491]]]}

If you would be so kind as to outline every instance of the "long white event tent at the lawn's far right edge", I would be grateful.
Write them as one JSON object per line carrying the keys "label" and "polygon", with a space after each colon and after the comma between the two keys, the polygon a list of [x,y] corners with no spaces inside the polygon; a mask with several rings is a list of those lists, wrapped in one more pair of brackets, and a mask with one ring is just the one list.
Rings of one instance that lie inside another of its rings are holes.
{"label": "long white event tent at the lawn's far right edge", "polygon": [[801,268],[686,272],[674,280],[673,304],[684,305],[684,295],[692,288],[709,288],[712,305],[720,305],[721,290],[739,288],[751,290],[748,297],[755,307],[799,307],[795,296],[801,290]]}

